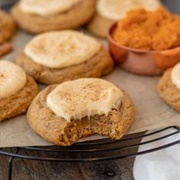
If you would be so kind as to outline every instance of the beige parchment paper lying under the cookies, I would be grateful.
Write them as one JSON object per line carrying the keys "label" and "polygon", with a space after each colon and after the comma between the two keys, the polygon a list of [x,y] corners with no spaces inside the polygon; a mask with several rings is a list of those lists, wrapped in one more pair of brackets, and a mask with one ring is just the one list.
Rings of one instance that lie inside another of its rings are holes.
{"label": "beige parchment paper lying under the cookies", "polygon": [[[1,59],[14,61],[15,55],[22,51],[32,37],[25,32],[18,32],[12,40],[14,51]],[[105,41],[100,40],[100,42],[107,47]],[[136,114],[128,131],[129,134],[172,125],[180,126],[180,114],[169,107],[157,94],[156,86],[160,77],[138,76],[116,67],[104,79],[123,88],[134,102]],[[94,135],[81,141],[99,138],[103,137]],[[33,132],[25,114],[0,123],[0,147],[41,145],[51,144]]]}

